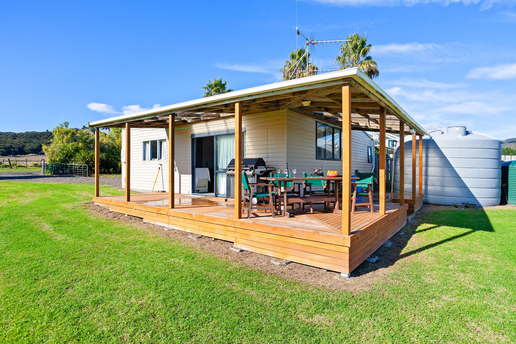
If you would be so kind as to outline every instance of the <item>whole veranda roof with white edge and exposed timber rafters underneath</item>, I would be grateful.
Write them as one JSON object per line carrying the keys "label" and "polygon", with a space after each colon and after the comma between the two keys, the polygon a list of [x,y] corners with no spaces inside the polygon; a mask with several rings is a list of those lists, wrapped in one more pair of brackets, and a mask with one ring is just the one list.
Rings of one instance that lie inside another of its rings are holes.
{"label": "whole veranda roof with white edge and exposed timber rafters underneath", "polygon": [[[241,102],[244,115],[286,110],[337,123],[342,121],[341,88],[344,84],[351,85],[352,129],[378,131],[382,106],[386,110],[386,132],[399,133],[401,120],[406,124],[406,135],[410,133],[410,128],[414,128],[418,134],[428,135],[420,124],[358,68],[204,97],[93,121],[88,126],[117,128],[130,122],[134,128],[168,128],[169,114],[175,114],[175,125],[219,119],[234,116],[235,102]],[[303,105],[308,101],[309,105]]]}

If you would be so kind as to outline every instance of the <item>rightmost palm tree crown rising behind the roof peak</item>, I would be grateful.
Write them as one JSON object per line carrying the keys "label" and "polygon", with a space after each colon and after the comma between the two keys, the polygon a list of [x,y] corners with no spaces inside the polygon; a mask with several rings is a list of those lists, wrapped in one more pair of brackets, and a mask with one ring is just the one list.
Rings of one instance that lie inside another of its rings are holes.
{"label": "rightmost palm tree crown rising behind the roof peak", "polygon": [[341,45],[341,56],[335,61],[341,65],[341,69],[358,67],[370,78],[376,78],[380,74],[376,61],[369,56],[372,45],[367,44],[367,37],[360,36],[358,32],[348,36],[348,41]]}

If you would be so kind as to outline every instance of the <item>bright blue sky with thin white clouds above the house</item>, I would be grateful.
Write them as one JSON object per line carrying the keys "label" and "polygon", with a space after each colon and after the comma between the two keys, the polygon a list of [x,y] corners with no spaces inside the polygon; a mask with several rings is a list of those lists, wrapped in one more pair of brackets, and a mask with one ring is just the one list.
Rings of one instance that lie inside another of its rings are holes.
{"label": "bright blue sky with thin white clouds above the house", "polygon": [[[516,1],[298,0],[301,32],[373,44],[375,80],[427,128],[516,137]],[[0,131],[52,129],[273,83],[296,47],[295,1],[4,2]],[[301,40],[298,41],[301,44]],[[338,45],[314,62],[335,67]]]}

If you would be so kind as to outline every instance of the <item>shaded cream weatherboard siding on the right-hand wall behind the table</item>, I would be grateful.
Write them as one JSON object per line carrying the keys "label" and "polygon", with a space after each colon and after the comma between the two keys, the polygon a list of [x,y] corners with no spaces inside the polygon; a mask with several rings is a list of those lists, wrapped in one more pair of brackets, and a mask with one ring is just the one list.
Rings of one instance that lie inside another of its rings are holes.
{"label": "shaded cream weatherboard siding on the right-hand wall behind the table", "polygon": [[[287,161],[288,168],[297,169],[296,176],[312,172],[322,166],[322,172],[328,170],[342,173],[342,160],[319,160],[315,158],[316,122],[327,123],[295,112],[287,113]],[[341,126],[342,128],[342,126]],[[371,172],[372,162],[367,162],[367,147],[374,147],[374,141],[364,132],[351,131],[351,172]],[[284,167],[284,166],[283,166]]]}

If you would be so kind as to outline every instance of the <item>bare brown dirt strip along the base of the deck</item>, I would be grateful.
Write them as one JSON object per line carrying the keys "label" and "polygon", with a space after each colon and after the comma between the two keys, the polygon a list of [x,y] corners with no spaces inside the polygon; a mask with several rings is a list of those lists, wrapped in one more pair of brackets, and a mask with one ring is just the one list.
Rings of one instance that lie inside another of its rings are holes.
{"label": "bare brown dirt strip along the base of the deck", "polygon": [[105,207],[96,206],[91,202],[88,203],[88,208],[96,216],[123,221],[138,228],[143,228],[148,232],[176,239],[185,246],[200,249],[214,256],[243,264],[251,269],[277,275],[286,280],[302,282],[316,287],[326,287],[329,289],[360,291],[369,289],[374,282],[384,279],[386,275],[393,271],[393,269],[397,269],[399,265],[396,263],[398,261],[408,261],[411,257],[400,259],[400,252],[405,248],[415,228],[423,223],[425,216],[429,214],[429,212],[441,210],[443,208],[449,209],[450,207],[423,206],[423,208],[418,211],[416,216],[407,223],[405,227],[391,237],[391,247],[387,248],[382,246],[374,253],[378,256],[377,263],[362,263],[352,272],[349,279],[342,277],[340,273],[334,271],[327,271],[325,269],[319,269],[298,263],[291,263],[284,266],[273,265],[270,261],[272,257],[249,251],[239,253],[232,251],[232,242],[218,239],[213,240],[208,237],[191,239],[188,237],[191,233],[179,230],[170,230],[163,226],[146,223],[143,222],[141,218],[113,212]]}

